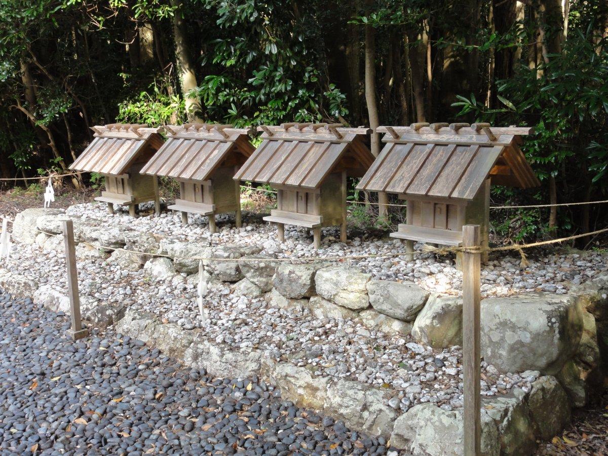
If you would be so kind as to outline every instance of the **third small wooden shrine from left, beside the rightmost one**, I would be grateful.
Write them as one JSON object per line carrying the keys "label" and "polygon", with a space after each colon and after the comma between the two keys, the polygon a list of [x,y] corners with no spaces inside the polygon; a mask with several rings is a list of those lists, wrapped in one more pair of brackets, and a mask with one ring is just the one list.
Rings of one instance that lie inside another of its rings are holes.
{"label": "third small wooden shrine from left, beside the rightmost one", "polygon": [[283,123],[258,130],[262,143],[234,178],[277,190],[277,209],[264,220],[277,224],[279,240],[285,240],[288,224],[311,229],[316,249],[322,227],[339,225],[345,241],[347,176],[362,176],[373,162],[365,145],[371,130],[341,123]]}

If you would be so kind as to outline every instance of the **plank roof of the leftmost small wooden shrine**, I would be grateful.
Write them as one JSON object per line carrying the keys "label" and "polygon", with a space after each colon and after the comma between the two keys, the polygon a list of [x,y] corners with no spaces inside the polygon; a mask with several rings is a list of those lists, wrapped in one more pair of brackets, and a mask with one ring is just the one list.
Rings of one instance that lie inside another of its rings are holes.
{"label": "plank roof of the leftmost small wooden shrine", "polygon": [[163,143],[157,129],[146,125],[112,123],[91,130],[94,138],[69,167],[71,170],[120,176],[148,145],[157,149]]}

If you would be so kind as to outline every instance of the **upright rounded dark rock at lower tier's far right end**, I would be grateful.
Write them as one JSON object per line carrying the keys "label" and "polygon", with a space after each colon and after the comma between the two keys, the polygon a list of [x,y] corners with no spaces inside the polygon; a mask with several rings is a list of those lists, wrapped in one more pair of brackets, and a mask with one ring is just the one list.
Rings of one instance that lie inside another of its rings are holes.
{"label": "upright rounded dark rock at lower tier's far right end", "polygon": [[568,396],[559,382],[550,375],[537,379],[528,396],[530,417],[536,427],[536,435],[550,440],[570,422]]}

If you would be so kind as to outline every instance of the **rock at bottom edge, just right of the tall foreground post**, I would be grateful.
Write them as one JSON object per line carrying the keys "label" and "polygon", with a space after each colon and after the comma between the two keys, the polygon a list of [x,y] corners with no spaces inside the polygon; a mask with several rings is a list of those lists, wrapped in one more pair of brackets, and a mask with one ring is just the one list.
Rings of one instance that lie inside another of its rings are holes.
{"label": "rock at bottom edge, just right of the tall foreground post", "polygon": [[500,454],[533,454],[536,447],[534,425],[525,401],[525,393],[513,389],[504,396],[482,398],[482,408],[498,430]]}

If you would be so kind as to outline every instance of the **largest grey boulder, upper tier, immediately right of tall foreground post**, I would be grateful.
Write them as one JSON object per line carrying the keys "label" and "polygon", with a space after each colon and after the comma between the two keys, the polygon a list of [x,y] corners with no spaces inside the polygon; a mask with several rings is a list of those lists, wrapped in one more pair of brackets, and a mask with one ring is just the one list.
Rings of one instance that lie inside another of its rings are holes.
{"label": "largest grey boulder, upper tier, immediately right of tall foreground post", "polygon": [[582,317],[576,298],[529,293],[481,305],[482,355],[502,372],[553,375],[578,348]]}

